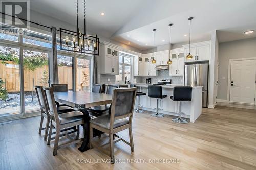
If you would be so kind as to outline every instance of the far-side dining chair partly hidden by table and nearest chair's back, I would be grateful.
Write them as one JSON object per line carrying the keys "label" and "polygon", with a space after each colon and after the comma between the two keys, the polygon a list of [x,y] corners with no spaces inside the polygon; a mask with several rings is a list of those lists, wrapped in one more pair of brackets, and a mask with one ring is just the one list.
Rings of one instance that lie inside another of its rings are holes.
{"label": "far-side dining chair partly hidden by table and nearest chair's back", "polygon": [[[118,85],[108,85],[106,87],[106,94],[113,94],[113,90],[118,88]],[[90,111],[93,116],[98,117],[102,114],[104,114],[106,111],[108,111],[110,108],[110,105],[102,105],[102,106],[95,106],[95,107],[90,107],[88,110]]]}

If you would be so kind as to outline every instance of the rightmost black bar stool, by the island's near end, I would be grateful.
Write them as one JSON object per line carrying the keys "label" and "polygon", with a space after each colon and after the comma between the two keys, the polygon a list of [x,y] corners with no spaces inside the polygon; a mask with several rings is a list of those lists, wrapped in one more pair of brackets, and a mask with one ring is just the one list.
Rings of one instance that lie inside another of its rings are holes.
{"label": "rightmost black bar stool, by the island's near end", "polygon": [[173,101],[180,102],[180,109],[179,109],[179,117],[173,118],[173,122],[186,124],[188,123],[187,120],[181,118],[181,102],[182,101],[191,101],[192,99],[192,87],[191,86],[176,86],[174,87],[174,94],[170,97]]}

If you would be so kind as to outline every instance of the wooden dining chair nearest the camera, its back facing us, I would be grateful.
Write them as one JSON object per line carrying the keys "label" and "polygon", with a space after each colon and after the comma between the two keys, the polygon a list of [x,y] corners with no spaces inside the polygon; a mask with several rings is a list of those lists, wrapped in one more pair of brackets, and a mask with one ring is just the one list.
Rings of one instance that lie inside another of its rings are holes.
{"label": "wooden dining chair nearest the camera, its back facing us", "polygon": [[[136,90],[137,88],[115,89],[112,96],[112,108],[109,110],[110,115],[105,114],[90,120],[90,148],[92,149],[95,147],[108,154],[111,158],[112,164],[115,163],[114,143],[122,140],[124,143],[130,145],[132,152],[134,151],[132,119]],[[101,146],[94,144],[93,129],[109,134],[110,142]],[[125,129],[129,129],[130,143],[116,134]],[[118,139],[114,141],[113,136],[116,136]],[[110,150],[103,148],[107,144],[110,145]]]}

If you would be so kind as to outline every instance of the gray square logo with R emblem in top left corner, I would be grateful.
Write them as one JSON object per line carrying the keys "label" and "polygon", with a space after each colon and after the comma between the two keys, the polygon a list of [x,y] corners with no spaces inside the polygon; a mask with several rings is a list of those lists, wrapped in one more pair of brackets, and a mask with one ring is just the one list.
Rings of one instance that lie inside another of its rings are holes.
{"label": "gray square logo with R emblem in top left corner", "polygon": [[[1,2],[1,23],[3,25],[12,26],[16,28],[29,27],[29,0],[8,1]],[[1,25],[2,25],[1,24]]]}

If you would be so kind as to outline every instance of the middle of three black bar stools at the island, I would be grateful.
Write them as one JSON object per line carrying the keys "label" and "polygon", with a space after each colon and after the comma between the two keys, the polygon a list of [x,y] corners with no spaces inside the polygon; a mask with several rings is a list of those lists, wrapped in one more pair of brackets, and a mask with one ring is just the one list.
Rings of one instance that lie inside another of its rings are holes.
{"label": "middle of three black bar stools at the island", "polygon": [[148,97],[150,98],[157,98],[157,111],[155,114],[152,114],[151,116],[153,117],[163,117],[163,114],[159,114],[158,113],[158,101],[159,99],[163,99],[166,98],[167,95],[163,95],[162,94],[162,86],[158,86],[158,85],[149,85],[147,86],[148,88]]}

